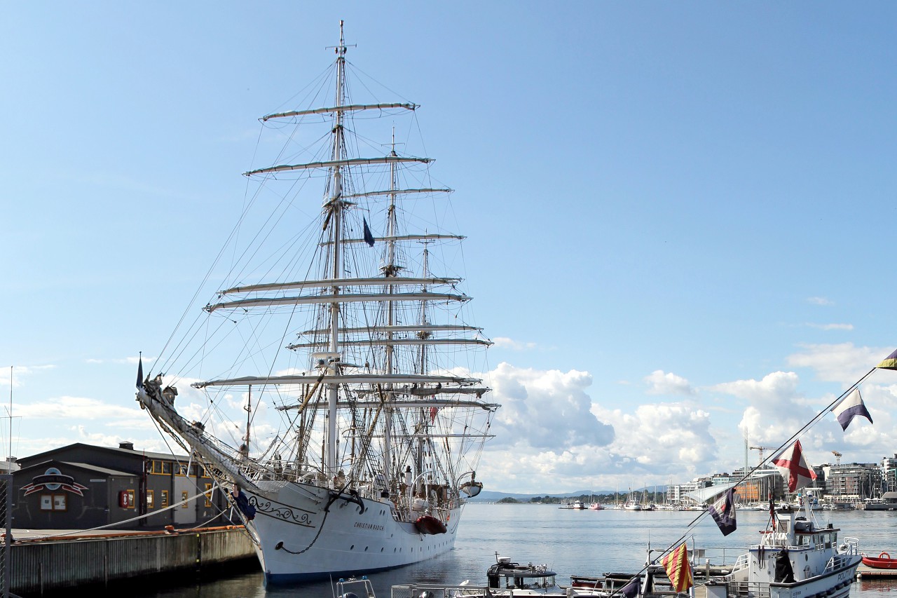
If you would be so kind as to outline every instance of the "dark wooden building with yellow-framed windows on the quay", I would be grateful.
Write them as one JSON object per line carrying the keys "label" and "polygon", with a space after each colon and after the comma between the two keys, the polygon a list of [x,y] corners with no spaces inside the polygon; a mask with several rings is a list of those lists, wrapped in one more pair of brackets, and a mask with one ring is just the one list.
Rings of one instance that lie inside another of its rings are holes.
{"label": "dark wooden building with yellow-framed windows on the quay", "polygon": [[[13,528],[86,530],[232,523],[221,488],[188,457],[69,444],[19,460]],[[146,516],[142,516],[146,515]]]}

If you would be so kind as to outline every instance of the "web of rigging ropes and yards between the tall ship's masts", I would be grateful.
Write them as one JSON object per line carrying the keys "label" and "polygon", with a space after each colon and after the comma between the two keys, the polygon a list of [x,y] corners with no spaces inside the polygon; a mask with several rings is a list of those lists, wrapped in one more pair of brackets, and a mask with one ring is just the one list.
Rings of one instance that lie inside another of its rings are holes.
{"label": "web of rigging ropes and yards between the tall ship's masts", "polygon": [[[315,456],[323,443],[315,422],[321,419],[325,393],[332,384],[322,383],[328,372],[336,377],[412,372],[455,379],[457,371],[488,371],[472,354],[491,344],[481,329],[466,323],[470,297],[460,290],[463,277],[453,274],[463,258],[464,237],[436,224],[445,220],[451,189],[431,180],[431,159],[404,154],[409,136],[396,142],[390,131],[393,141],[384,147],[353,135],[355,120],[367,119],[370,112],[376,113],[373,116],[388,112],[396,118],[411,115],[419,132],[417,107],[406,101],[373,101],[337,110],[321,101],[326,84],[321,78],[317,87],[309,88],[306,100],[330,108],[280,110],[262,119],[263,131],[272,129],[286,141],[283,150],[263,160],[276,166],[248,171],[239,221],[196,292],[196,297],[209,293],[212,299],[205,312],[196,310],[196,320],[184,327],[179,342],[170,340],[154,366],[166,372],[167,384],[180,382],[179,402],[203,400],[199,393],[205,397],[206,411],[199,422],[226,443],[222,450],[236,453],[235,447],[248,437],[244,450],[277,454],[279,462],[292,463],[297,470],[324,469]],[[332,128],[329,117],[335,112],[341,112],[344,120]],[[392,127],[394,119],[386,120]],[[321,124],[325,127],[314,132],[314,126]],[[309,133],[307,125],[312,126]],[[336,150],[330,143],[334,132],[340,139]],[[261,139],[262,135],[257,153],[266,147]],[[274,182],[283,179],[289,179],[288,189],[275,190]],[[323,197],[309,194],[309,182],[322,180],[327,181]],[[311,216],[322,205],[325,209]],[[258,210],[267,215],[256,215]],[[209,281],[225,260],[231,263],[224,280],[231,282],[210,292]],[[309,283],[316,279],[318,284]],[[338,363],[331,369],[318,368],[314,356],[332,353],[335,309]],[[283,318],[285,326],[275,327],[274,317]],[[186,316],[179,327],[185,321]],[[214,361],[212,356],[225,347],[237,349],[226,351],[231,360]],[[199,382],[247,371],[257,373],[249,388]],[[274,383],[283,374],[317,380]],[[187,389],[185,382],[195,388]],[[377,462],[386,453],[379,444],[375,447],[374,440],[386,434],[418,438],[406,443],[404,452],[392,454],[394,467],[429,460],[426,466],[448,480],[461,472],[454,458],[471,448],[468,444],[479,444],[468,455],[477,460],[489,434],[491,418],[479,425],[471,418],[474,411],[494,409],[480,401],[488,391],[483,384],[396,388],[390,383],[369,385],[366,394],[363,387],[337,386],[345,407],[337,427],[338,462],[356,478],[377,474]],[[446,394],[450,392],[475,394],[476,400],[467,406],[461,400],[424,406],[432,398],[465,396]],[[378,397],[379,404],[371,403],[370,397]],[[421,403],[419,409],[394,407],[414,400]],[[268,421],[272,407],[283,408],[280,432]],[[239,417],[242,409],[248,413]],[[248,435],[247,427],[258,429]],[[285,444],[275,448],[281,441]],[[447,458],[438,459],[436,453]]]}

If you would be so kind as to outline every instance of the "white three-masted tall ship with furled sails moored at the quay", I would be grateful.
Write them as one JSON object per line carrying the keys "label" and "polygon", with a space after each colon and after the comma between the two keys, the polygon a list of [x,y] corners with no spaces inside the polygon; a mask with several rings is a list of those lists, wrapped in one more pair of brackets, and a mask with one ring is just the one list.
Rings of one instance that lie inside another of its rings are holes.
{"label": "white three-masted tall ship with furled sails moored at the quay", "polygon": [[306,107],[260,119],[285,146],[245,172],[254,190],[210,270],[230,273],[138,374],[137,400],[227,492],[266,581],[451,550],[499,407],[477,374],[492,343],[451,273],[464,237],[439,222],[451,189],[396,143],[418,106],[350,101],[347,49],[340,22]]}

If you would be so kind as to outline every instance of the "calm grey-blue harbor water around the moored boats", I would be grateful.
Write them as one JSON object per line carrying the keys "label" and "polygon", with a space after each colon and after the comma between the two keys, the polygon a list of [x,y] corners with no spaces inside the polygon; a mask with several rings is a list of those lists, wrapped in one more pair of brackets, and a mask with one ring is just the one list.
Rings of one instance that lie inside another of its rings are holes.
{"label": "calm grey-blue harbor water around the moored boats", "polygon": [[[465,507],[455,550],[446,555],[386,573],[370,575],[379,598],[388,598],[395,584],[444,582],[456,584],[470,579],[485,583],[486,568],[495,562],[495,553],[518,563],[547,564],[558,573],[558,583],[570,575],[601,575],[608,571],[635,572],[645,561],[648,546],[663,549],[679,539],[688,523],[699,513],[653,511],[631,512],[574,511],[556,505],[478,505]],[[704,517],[689,536],[698,548],[725,550],[731,561],[758,540],[757,532],[768,520],[760,511],[740,511],[738,529],[726,538],[710,517]],[[824,511],[816,520],[840,528],[839,539],[855,536],[860,550],[869,555],[887,551],[897,555],[897,512]],[[360,571],[359,574],[363,574]],[[881,598],[897,595],[897,579],[860,581],[851,590],[852,598]],[[332,586],[293,585],[265,588],[261,573],[226,576],[202,584],[172,586],[146,593],[129,593],[141,598],[187,598],[227,596],[274,598],[285,596],[332,596]]]}

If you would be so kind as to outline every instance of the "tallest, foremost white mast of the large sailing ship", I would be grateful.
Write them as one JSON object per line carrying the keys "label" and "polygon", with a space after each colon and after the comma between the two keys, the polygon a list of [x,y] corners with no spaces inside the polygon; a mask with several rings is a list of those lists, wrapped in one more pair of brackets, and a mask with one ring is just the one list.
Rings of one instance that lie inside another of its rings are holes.
{"label": "tallest, foremost white mast of the large sailing ship", "polygon": [[[340,226],[342,225],[342,207],[343,207],[343,166],[340,160],[343,158],[343,110],[340,110],[344,104],[344,70],[345,70],[345,38],[343,35],[343,21],[339,22],[339,46],[335,48],[336,52],[336,101],[335,116],[336,124],[334,127],[334,167],[333,167],[333,189],[331,198],[328,201],[328,207],[331,210],[330,235],[333,241],[333,270],[334,280],[340,279]],[[330,303],[330,363],[325,367],[330,368],[334,375],[339,374],[339,286],[332,287],[335,301]],[[334,479],[336,475],[336,403],[338,402],[339,384],[331,383],[327,387],[327,454],[325,460],[325,470],[327,478]]]}

